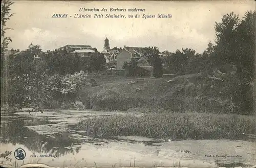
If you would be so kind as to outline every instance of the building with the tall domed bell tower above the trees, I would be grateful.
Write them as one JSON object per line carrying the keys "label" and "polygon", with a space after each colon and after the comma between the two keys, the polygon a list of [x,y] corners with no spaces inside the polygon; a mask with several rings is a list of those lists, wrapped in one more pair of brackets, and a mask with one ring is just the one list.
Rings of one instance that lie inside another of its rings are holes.
{"label": "building with the tall domed bell tower above the trees", "polygon": [[110,43],[109,43],[109,39],[105,38],[104,40],[104,47],[103,47],[103,51],[101,52],[101,54],[104,55],[105,59],[106,59],[106,63],[110,63],[110,64],[116,64],[116,57],[117,54],[121,51],[121,49],[118,49],[117,47],[114,47],[113,49],[110,49]]}

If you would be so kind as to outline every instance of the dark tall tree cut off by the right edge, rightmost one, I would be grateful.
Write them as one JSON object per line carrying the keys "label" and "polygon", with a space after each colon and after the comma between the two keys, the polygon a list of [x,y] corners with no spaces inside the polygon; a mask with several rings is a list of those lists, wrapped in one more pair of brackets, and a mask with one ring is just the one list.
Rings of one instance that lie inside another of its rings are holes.
{"label": "dark tall tree cut off by the right edge, rightmost one", "polygon": [[237,75],[240,85],[234,94],[234,100],[244,113],[253,111],[253,80],[255,78],[255,19],[256,12],[247,11],[237,28],[236,47],[233,55],[236,55],[234,64],[237,67]]}

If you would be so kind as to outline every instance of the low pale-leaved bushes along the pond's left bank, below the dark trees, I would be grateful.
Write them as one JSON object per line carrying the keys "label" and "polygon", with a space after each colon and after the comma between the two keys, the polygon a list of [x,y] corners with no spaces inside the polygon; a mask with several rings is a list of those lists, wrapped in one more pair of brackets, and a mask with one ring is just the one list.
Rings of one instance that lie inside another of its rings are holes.
{"label": "low pale-leaved bushes along the pond's left bank, below the dark trees", "polygon": [[10,83],[10,105],[38,107],[38,110],[60,108],[63,102],[74,102],[78,90],[91,85],[83,71],[66,76],[24,74],[10,79]]}

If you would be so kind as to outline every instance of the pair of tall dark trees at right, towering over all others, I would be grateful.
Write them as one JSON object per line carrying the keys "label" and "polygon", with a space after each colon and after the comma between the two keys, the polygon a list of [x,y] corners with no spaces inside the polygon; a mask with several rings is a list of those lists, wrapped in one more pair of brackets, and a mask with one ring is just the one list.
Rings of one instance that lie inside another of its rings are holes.
{"label": "pair of tall dark trees at right, towering over all others", "polygon": [[213,65],[229,64],[237,68],[230,82],[234,83],[230,97],[241,113],[253,110],[252,81],[255,76],[255,11],[247,11],[242,20],[233,12],[217,23],[215,52],[211,54]]}

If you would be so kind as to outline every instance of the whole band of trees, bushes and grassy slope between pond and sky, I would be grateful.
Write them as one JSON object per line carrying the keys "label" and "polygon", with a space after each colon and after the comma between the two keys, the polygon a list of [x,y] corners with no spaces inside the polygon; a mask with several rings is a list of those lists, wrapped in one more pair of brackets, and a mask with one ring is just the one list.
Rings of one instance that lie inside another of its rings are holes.
{"label": "whole band of trees, bushes and grassy slope between pond and sky", "polygon": [[[40,46],[30,44],[27,51],[9,56],[4,62],[9,78],[4,78],[3,73],[1,77],[10,83],[9,87],[2,87],[8,95],[6,102],[19,107],[68,108],[80,101],[85,108],[101,110],[150,107],[250,114],[255,68],[254,18],[255,12],[246,12],[242,20],[233,13],[224,15],[215,26],[216,42],[209,42],[202,54],[182,49],[159,57],[157,47],[146,48],[144,54],[154,67],[153,75],[162,78],[164,63],[165,71],[180,75],[173,82],[145,79],[132,83],[120,79],[104,84],[102,76],[95,82],[90,75],[79,72],[104,70],[105,60],[97,49],[97,56],[83,61],[67,51],[44,54]],[[35,56],[41,59],[34,59]],[[124,68],[127,76],[145,75],[135,60],[126,62]]]}

